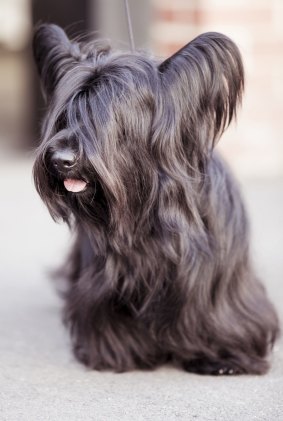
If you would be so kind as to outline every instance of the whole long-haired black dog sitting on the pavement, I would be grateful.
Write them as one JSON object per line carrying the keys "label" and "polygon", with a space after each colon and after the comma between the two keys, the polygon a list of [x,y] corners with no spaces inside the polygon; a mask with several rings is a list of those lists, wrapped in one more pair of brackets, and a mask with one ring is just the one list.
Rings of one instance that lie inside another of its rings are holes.
{"label": "whole long-haired black dog sitting on the pavement", "polygon": [[35,184],[77,233],[65,268],[76,357],[97,370],[264,373],[277,317],[213,151],[241,101],[236,45],[206,33],[158,63],[42,25],[34,55],[49,104]]}

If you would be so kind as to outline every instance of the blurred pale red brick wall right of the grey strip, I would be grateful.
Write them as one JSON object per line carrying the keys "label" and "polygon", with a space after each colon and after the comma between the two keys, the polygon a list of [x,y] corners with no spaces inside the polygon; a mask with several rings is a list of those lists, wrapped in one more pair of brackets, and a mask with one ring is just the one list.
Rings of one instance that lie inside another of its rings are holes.
{"label": "blurred pale red brick wall right of the grey strip", "polygon": [[283,0],[152,0],[155,53],[167,57],[205,31],[239,45],[246,93],[219,148],[240,175],[283,175]]}

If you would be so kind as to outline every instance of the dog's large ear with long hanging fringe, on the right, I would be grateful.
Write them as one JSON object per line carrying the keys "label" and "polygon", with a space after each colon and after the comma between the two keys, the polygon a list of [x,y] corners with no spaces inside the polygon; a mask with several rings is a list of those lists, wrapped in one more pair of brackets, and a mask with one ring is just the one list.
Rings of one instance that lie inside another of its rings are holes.
{"label": "dog's large ear with long hanging fringe, on the right", "polygon": [[181,132],[196,147],[211,149],[242,98],[244,70],[235,43],[219,33],[202,34],[161,63],[159,72]]}

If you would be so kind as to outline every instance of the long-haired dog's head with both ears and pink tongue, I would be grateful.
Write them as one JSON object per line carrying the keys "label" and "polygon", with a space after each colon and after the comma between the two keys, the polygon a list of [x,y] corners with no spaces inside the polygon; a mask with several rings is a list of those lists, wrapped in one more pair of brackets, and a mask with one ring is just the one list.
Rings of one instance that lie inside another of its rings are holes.
{"label": "long-haired dog's head with both ears and pink tongue", "polygon": [[48,103],[34,178],[54,218],[145,224],[184,198],[241,100],[239,51],[218,33],[162,63],[56,25],[39,26],[33,47]]}

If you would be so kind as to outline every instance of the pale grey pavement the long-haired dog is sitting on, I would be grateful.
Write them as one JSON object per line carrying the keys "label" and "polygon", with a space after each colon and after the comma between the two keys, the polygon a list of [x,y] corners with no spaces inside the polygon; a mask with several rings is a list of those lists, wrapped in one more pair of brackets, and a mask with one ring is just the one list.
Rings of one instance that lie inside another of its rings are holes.
{"label": "pale grey pavement the long-haired dog is sitting on", "polygon": [[[244,183],[258,271],[283,315],[283,180]],[[262,377],[164,367],[87,371],[71,353],[49,281],[70,243],[31,182],[31,163],[0,162],[0,420],[283,420],[283,346]]]}

